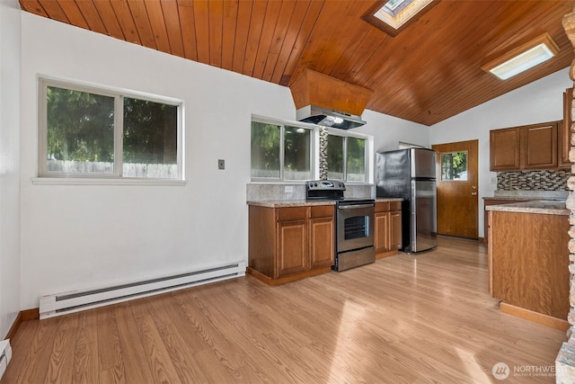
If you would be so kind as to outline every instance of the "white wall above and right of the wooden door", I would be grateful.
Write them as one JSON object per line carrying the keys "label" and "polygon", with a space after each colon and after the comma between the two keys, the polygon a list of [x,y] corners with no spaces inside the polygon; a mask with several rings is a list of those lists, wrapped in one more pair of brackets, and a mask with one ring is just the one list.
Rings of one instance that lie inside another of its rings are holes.
{"label": "white wall above and right of the wooden door", "polygon": [[483,237],[482,198],[492,197],[497,189],[491,183],[497,174],[489,171],[489,131],[562,120],[563,92],[571,86],[565,68],[429,128],[432,145],[479,140],[479,237]]}

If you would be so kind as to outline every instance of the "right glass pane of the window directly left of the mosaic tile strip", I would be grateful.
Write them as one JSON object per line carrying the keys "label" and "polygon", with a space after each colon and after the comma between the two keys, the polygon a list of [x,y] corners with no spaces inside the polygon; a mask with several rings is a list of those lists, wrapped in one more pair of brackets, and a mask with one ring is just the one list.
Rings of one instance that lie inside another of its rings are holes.
{"label": "right glass pane of the window directly left of the mosaic tile strip", "polygon": [[286,126],[284,129],[284,178],[309,180],[311,169],[311,129]]}

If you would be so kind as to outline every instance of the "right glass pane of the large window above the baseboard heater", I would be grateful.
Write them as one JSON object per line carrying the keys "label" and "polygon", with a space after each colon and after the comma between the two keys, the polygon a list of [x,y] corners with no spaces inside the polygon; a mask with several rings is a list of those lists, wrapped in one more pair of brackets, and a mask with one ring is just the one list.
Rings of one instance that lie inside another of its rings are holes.
{"label": "right glass pane of the large window above the baseboard heater", "polygon": [[178,177],[178,107],[124,98],[123,175]]}

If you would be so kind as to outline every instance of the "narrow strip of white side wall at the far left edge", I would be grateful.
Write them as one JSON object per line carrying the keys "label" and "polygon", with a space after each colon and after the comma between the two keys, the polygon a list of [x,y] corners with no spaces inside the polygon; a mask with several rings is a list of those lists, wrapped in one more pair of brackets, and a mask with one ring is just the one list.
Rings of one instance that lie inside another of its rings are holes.
{"label": "narrow strip of white side wall at the far left edge", "polygon": [[0,339],[20,311],[20,11],[0,2]]}

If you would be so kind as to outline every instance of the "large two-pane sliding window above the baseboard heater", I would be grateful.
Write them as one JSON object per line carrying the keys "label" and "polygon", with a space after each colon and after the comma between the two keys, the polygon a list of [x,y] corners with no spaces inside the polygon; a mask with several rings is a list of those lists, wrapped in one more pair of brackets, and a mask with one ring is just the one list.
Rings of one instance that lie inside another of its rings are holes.
{"label": "large two-pane sliding window above the baseboard heater", "polygon": [[39,78],[41,177],[183,180],[180,100]]}

